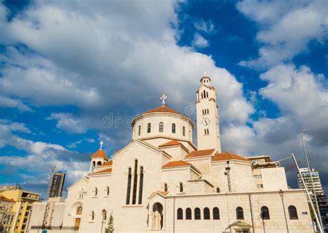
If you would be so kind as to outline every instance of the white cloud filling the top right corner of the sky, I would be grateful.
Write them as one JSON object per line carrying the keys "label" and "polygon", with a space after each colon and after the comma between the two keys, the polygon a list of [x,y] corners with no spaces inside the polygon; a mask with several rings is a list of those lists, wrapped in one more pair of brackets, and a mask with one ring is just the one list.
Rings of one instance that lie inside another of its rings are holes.
{"label": "white cloud filling the top right corner of the sky", "polygon": [[327,39],[328,3],[316,1],[245,0],[237,8],[260,26],[259,57],[242,61],[242,66],[269,68],[307,49],[310,41]]}

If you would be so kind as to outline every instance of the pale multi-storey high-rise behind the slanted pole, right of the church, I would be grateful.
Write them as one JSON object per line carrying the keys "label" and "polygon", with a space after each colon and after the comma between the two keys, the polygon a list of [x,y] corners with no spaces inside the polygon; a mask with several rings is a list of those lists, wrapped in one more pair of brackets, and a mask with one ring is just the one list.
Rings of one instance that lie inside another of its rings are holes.
{"label": "pale multi-storey high-rise behind the slanted pole, right of the church", "polygon": [[[311,195],[311,197],[313,197],[313,189],[312,189],[309,169],[307,167],[300,168],[300,173],[303,176],[305,185],[307,185],[307,189],[309,190],[309,194]],[[316,192],[316,196],[323,196],[324,192],[323,192],[323,189],[322,189],[322,186],[321,186],[319,172],[312,168],[311,169],[311,176],[312,176],[313,186],[314,186],[314,191]],[[302,183],[302,180],[300,178],[300,174],[298,174],[298,187],[300,187],[300,189],[304,189],[304,184]]]}

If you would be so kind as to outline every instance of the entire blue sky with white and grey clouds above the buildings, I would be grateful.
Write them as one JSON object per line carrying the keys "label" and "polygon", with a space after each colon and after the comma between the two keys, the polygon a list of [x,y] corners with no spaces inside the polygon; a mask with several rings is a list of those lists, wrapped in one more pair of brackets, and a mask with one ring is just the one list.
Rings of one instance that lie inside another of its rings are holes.
{"label": "entire blue sky with white and grey clouds above the buildings", "polygon": [[[128,123],[161,104],[162,92],[178,111],[194,106],[206,72],[224,151],[295,153],[304,166],[307,129],[327,190],[327,1],[0,4],[1,185],[44,195],[53,165],[70,185],[100,140],[109,156],[127,145]],[[297,187],[291,161],[282,165]]]}

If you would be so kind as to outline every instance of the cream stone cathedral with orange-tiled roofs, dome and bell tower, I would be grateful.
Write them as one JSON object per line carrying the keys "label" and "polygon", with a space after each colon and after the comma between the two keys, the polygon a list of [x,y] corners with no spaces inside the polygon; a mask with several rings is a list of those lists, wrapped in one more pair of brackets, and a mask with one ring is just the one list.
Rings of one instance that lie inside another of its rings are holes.
{"label": "cream stone cathedral with orange-tiled roofs, dome and bell tower", "polygon": [[210,77],[197,90],[197,145],[194,122],[165,98],[134,118],[128,145],[91,156],[68,188],[63,230],[104,232],[113,216],[114,232],[313,232],[307,196],[279,162],[221,151]]}

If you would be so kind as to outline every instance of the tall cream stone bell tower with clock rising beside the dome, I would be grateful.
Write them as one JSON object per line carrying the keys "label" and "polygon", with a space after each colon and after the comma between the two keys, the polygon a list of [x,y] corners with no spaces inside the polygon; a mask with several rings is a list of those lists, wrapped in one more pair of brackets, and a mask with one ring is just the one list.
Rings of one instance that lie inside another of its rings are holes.
{"label": "tall cream stone bell tower with clock rising beside the dome", "polygon": [[215,149],[221,153],[217,93],[210,81],[210,77],[204,75],[197,90],[197,145],[199,150]]}

